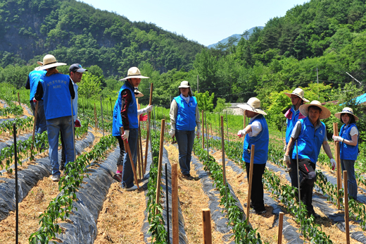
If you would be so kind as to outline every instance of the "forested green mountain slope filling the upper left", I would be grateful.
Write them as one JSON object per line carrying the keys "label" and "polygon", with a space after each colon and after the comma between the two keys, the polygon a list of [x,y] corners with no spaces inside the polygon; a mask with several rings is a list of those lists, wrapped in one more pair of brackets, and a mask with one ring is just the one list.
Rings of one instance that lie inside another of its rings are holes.
{"label": "forested green mountain slope filling the upper left", "polygon": [[33,65],[45,54],[97,65],[105,76],[150,63],[160,73],[189,71],[204,46],[75,0],[0,0],[0,66]]}

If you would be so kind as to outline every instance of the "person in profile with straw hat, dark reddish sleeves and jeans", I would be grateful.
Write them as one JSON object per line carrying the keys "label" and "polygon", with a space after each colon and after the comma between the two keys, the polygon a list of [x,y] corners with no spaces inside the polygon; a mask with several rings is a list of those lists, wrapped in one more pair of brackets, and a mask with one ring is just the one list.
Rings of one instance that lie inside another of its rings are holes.
{"label": "person in profile with straw hat, dark reddish sleeves and jeans", "polygon": [[[134,185],[134,173],[132,171],[130,156],[125,152],[123,140],[127,140],[130,145],[132,163],[136,166],[139,128],[137,116],[152,111],[153,106],[149,105],[145,109],[138,110],[134,90],[139,87],[141,79],[147,78],[149,77],[141,75],[139,68],[130,68],[127,72],[127,77],[120,79],[125,80],[125,84],[122,85],[120,92],[118,92],[118,99],[115,101],[113,109],[112,135],[117,138],[120,145],[120,157],[118,158],[117,171],[113,178],[120,182],[122,188],[125,188],[127,191],[137,190],[137,186]],[[121,128],[125,130],[123,135],[120,133]]]}

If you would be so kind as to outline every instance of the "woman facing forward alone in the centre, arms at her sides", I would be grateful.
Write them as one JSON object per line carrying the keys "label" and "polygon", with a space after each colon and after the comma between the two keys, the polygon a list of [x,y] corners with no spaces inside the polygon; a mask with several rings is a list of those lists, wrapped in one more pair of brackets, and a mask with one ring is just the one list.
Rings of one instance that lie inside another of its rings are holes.
{"label": "woman facing forward alone in the centre, arms at her sides", "polygon": [[184,80],[180,83],[179,95],[170,104],[170,137],[177,138],[179,167],[187,180],[193,180],[191,154],[194,144],[194,130],[197,126],[197,138],[201,134],[201,121],[196,97],[193,97],[191,85]]}

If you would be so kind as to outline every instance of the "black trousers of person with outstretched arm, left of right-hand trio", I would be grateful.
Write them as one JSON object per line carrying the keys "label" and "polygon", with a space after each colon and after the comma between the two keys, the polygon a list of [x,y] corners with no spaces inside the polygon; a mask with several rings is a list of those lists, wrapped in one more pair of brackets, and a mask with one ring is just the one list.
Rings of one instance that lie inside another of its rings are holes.
{"label": "black trousers of person with outstretched arm, left of right-hand trio", "polygon": [[[249,170],[251,169],[250,163],[245,163],[246,166],[246,178],[249,181]],[[265,164],[253,164],[253,180],[251,190],[251,204],[255,212],[265,210],[265,202],[263,200],[263,182],[262,176],[265,172]]]}

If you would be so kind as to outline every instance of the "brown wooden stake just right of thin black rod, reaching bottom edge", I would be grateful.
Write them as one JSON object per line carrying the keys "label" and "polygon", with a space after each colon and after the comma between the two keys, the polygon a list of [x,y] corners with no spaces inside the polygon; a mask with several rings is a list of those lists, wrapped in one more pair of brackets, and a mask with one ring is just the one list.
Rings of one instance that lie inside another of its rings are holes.
{"label": "brown wooden stake just right of thin black rod, reaching bottom edge", "polygon": [[173,244],[179,244],[178,164],[172,165],[172,232]]}

